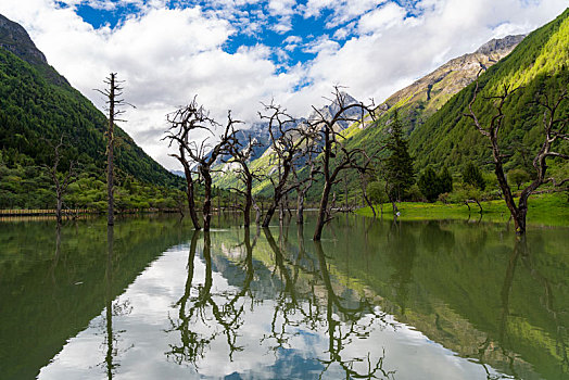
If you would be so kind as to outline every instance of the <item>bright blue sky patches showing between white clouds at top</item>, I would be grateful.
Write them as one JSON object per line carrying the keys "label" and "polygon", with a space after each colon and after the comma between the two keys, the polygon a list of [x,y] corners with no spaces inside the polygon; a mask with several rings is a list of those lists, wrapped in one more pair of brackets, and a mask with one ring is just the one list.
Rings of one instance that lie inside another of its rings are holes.
{"label": "bright blue sky patches showing between white clouds at top", "polygon": [[[308,1],[296,1],[292,5],[290,15],[282,14],[283,12],[271,12],[269,2],[253,1],[251,3],[244,2],[241,5],[231,7],[230,10],[236,10],[230,16],[226,16],[236,30],[228,40],[224,43],[224,50],[228,53],[235,53],[243,46],[254,47],[262,43],[267,47],[278,50],[280,47],[288,46],[287,54],[273,53],[271,59],[278,65],[294,65],[296,63],[304,63],[317,55],[316,51],[307,51],[307,49],[293,49],[291,42],[295,45],[309,46],[311,42],[318,40],[320,36],[328,36],[330,39],[337,41],[342,46],[347,39],[356,35],[346,25],[358,20],[362,15],[370,13],[371,11],[385,5],[388,1],[367,1],[362,7],[362,10],[354,14],[345,14],[338,17],[339,10],[334,2],[330,2],[328,7],[318,8],[317,14],[305,16],[303,9],[309,7]],[[336,3],[341,3],[337,1]],[[401,7],[404,7],[407,15],[418,15],[420,10],[414,9],[412,1],[401,2],[393,1]],[[65,2],[60,1],[60,7],[67,7]],[[119,27],[121,23],[132,16],[143,15],[144,2],[124,2],[121,0],[112,1],[83,1],[75,5],[76,13],[85,22],[100,28],[110,26],[111,28]],[[168,9],[185,9],[199,7],[204,13],[224,14],[227,11],[227,3],[215,1],[164,1],[164,7]],[[350,7],[350,4],[345,4]],[[284,12],[286,13],[286,12]],[[252,31],[251,25],[260,25],[257,30]],[[278,26],[278,28],[275,28]],[[346,29],[345,33],[341,33]],[[339,33],[340,31],[340,33]],[[299,40],[300,38],[300,40]]]}

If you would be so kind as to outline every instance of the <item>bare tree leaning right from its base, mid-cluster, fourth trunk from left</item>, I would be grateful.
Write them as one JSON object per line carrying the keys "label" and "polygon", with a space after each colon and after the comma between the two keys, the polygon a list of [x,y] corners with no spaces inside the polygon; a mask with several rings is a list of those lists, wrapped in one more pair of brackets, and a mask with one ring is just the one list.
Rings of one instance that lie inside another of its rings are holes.
{"label": "bare tree leaning right from its base, mid-cluster, fourth trunk from left", "polygon": [[298,188],[298,183],[289,183],[289,177],[295,160],[302,154],[302,147],[305,142],[306,135],[303,134],[300,128],[293,127],[295,121],[288,115],[280,105],[274,103],[265,105],[265,112],[266,114],[260,114],[260,116],[261,119],[268,121],[268,130],[270,134],[269,149],[271,150],[273,157],[278,160],[278,180],[275,180],[273,173],[268,174],[274,188],[273,201],[263,219],[263,227],[268,227],[283,197]]}

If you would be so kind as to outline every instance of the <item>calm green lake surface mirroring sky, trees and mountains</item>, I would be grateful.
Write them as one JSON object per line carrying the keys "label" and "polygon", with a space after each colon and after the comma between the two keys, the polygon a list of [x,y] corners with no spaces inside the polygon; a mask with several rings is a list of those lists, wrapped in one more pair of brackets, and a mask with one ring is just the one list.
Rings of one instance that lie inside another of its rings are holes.
{"label": "calm green lake surface mirroring sky, trees and mountains", "polygon": [[569,229],[215,221],[0,223],[0,378],[569,378]]}

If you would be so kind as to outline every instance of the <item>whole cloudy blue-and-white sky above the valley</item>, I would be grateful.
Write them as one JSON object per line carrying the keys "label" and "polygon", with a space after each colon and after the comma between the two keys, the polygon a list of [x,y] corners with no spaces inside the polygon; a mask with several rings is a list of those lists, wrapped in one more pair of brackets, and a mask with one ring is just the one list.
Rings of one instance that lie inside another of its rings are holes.
{"label": "whole cloudy blue-and-white sky above the valley", "polygon": [[119,124],[166,168],[166,114],[194,96],[219,123],[261,102],[306,116],[333,86],[381,103],[492,38],[526,34],[567,0],[0,0],[48,62],[99,109],[109,73],[136,105]]}

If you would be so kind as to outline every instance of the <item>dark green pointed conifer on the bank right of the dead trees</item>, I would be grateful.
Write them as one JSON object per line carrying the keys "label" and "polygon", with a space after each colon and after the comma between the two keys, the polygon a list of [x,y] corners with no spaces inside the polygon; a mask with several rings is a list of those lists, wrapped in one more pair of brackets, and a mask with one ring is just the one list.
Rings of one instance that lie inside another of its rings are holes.
{"label": "dark green pointed conifer on the bank right of the dead trees", "polygon": [[403,135],[403,127],[397,112],[391,124],[391,135],[385,143],[391,155],[385,160],[384,175],[389,182],[390,197],[401,201],[405,191],[415,183],[413,157],[409,155],[408,141]]}

